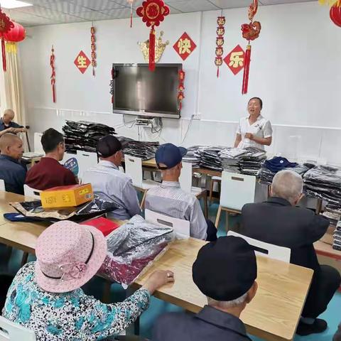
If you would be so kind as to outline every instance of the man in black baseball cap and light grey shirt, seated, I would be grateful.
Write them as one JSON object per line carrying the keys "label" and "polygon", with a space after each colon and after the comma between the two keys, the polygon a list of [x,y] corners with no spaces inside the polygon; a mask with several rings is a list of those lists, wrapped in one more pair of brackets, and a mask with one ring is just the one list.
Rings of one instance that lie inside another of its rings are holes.
{"label": "man in black baseball cap and light grey shirt, seated", "polygon": [[127,220],[141,213],[139,199],[131,178],[119,171],[123,153],[121,142],[112,135],[97,143],[100,158],[97,166],[85,171],[83,183],[91,183],[94,193],[103,200],[115,202],[119,207],[108,214],[118,220]]}

